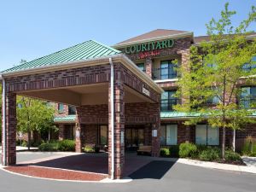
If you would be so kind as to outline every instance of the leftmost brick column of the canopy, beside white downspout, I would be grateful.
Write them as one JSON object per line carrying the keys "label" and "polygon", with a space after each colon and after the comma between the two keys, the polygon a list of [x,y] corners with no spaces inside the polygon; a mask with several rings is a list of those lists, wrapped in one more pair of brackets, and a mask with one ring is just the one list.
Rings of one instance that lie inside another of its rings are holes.
{"label": "leftmost brick column of the canopy, beside white downspout", "polygon": [[[6,165],[11,166],[16,164],[16,94],[8,92],[5,98],[6,111]],[[3,110],[3,109],[2,109]],[[3,120],[3,112],[2,112]],[[2,146],[3,146],[3,123],[2,123]],[[3,162],[3,148],[2,148]]]}

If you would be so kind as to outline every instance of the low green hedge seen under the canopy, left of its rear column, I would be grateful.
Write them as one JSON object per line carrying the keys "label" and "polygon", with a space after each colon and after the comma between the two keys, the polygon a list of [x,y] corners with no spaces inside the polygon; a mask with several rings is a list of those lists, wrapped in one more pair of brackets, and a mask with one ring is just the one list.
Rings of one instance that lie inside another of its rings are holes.
{"label": "low green hedge seen under the canopy, left of its rear column", "polygon": [[75,151],[75,141],[51,141],[49,143],[40,144],[38,149],[40,151]]}

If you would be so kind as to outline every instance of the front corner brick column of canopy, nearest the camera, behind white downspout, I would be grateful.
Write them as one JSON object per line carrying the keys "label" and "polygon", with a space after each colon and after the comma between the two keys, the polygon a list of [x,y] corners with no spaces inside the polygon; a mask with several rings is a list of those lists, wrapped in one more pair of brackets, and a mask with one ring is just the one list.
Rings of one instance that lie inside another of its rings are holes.
{"label": "front corner brick column of canopy, nearest the camera, behind white downspout", "polygon": [[[120,77],[119,72],[117,77]],[[124,84],[120,79],[114,80],[114,178],[122,177],[125,165],[125,102]],[[111,86],[108,89],[108,175],[111,176]],[[121,138],[123,137],[123,138]]]}

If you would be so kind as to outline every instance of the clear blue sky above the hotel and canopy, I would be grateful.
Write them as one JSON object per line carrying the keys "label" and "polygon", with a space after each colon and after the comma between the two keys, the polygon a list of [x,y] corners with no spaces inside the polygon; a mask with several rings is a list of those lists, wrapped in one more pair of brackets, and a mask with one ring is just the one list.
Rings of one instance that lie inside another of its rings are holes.
{"label": "clear blue sky above the hotel and canopy", "polygon": [[[223,0],[0,0],[0,70],[95,39],[116,44],[157,28],[205,35]],[[255,0],[233,0],[234,22]],[[256,31],[256,25],[251,30]]]}

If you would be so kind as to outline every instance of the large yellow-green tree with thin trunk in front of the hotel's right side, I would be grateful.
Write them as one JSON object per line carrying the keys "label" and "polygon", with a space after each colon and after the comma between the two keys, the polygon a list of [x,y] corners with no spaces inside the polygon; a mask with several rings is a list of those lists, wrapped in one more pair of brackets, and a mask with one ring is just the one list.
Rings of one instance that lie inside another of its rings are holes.
{"label": "large yellow-green tree with thin trunk in front of the hotel's right side", "polygon": [[[255,84],[256,63],[252,57],[256,54],[256,41],[247,38],[247,28],[256,21],[256,9],[252,7],[247,19],[236,27],[231,22],[233,15],[236,11],[230,11],[226,3],[220,19],[212,19],[207,24],[210,42],[191,46],[188,66],[178,69],[182,77],[178,80],[177,96],[184,99],[175,108],[194,114],[195,118],[186,121],[186,125],[207,119],[212,127],[221,128],[222,141],[225,141],[226,129],[238,130],[241,125],[252,123],[249,116],[255,112],[236,98],[246,95],[241,84]],[[207,102],[212,99],[215,103],[210,108]],[[225,142],[222,143],[223,159],[224,149]]]}

